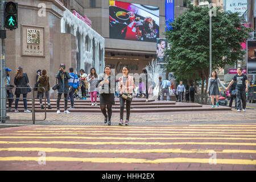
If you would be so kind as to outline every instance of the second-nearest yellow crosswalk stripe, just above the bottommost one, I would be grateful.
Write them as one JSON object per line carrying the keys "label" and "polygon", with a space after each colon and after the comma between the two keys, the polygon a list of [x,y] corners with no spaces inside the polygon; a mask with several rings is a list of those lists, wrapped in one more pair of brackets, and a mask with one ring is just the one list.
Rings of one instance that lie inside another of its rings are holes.
{"label": "second-nearest yellow crosswalk stripe, just above the bottommost one", "polygon": [[181,148],[167,148],[167,149],[125,149],[125,150],[109,150],[109,149],[77,149],[77,148],[0,148],[0,151],[44,151],[44,152],[86,152],[86,153],[245,153],[256,154],[256,150],[182,150]]}

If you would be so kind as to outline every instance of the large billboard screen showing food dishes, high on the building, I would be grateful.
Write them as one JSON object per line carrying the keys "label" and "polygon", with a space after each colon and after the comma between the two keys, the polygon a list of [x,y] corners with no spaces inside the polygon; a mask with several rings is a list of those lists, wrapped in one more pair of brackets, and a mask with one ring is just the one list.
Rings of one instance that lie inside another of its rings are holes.
{"label": "large billboard screen showing food dishes, high on the building", "polygon": [[159,7],[109,0],[109,38],[156,42]]}

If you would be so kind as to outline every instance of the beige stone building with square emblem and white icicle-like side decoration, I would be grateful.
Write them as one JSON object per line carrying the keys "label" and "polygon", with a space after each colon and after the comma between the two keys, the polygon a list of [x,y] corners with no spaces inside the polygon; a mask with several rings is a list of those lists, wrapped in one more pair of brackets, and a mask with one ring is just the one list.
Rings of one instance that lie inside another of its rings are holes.
{"label": "beige stone building with square emblem and white icicle-like side decoration", "polygon": [[[32,87],[39,69],[46,69],[50,86],[55,85],[61,63],[67,71],[73,67],[77,73],[85,69],[86,64],[103,69],[104,38],[67,9],[68,1],[15,2],[18,3],[18,28],[6,33],[6,67],[13,70],[11,84],[19,66],[27,73]],[[51,98],[56,98],[56,93],[51,89]]]}

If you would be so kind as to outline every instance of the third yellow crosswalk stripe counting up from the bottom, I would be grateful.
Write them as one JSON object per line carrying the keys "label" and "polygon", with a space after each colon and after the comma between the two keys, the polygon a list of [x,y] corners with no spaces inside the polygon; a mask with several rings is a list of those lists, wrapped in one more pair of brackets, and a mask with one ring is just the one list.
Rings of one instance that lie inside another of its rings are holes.
{"label": "third yellow crosswalk stripe counting up from the bottom", "polygon": [[0,141],[0,144],[139,144],[139,145],[167,145],[167,144],[213,144],[230,146],[256,146],[256,143],[235,143],[235,142],[75,142],[75,141]]}

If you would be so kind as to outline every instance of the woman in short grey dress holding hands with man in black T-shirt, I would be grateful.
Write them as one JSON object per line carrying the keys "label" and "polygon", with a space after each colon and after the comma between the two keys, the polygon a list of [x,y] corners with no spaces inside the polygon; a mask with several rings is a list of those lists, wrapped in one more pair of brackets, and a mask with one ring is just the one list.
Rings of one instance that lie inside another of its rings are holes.
{"label": "woman in short grey dress holding hands with man in black T-shirt", "polygon": [[211,108],[214,108],[214,97],[216,98],[217,107],[219,106],[218,105],[218,96],[220,96],[220,91],[219,91],[220,86],[219,85],[222,88],[226,89],[225,86],[220,81],[220,78],[218,78],[217,72],[213,71],[212,77],[210,77],[208,80],[208,89],[207,89],[207,93],[209,93],[210,97],[212,97],[212,107]]}

